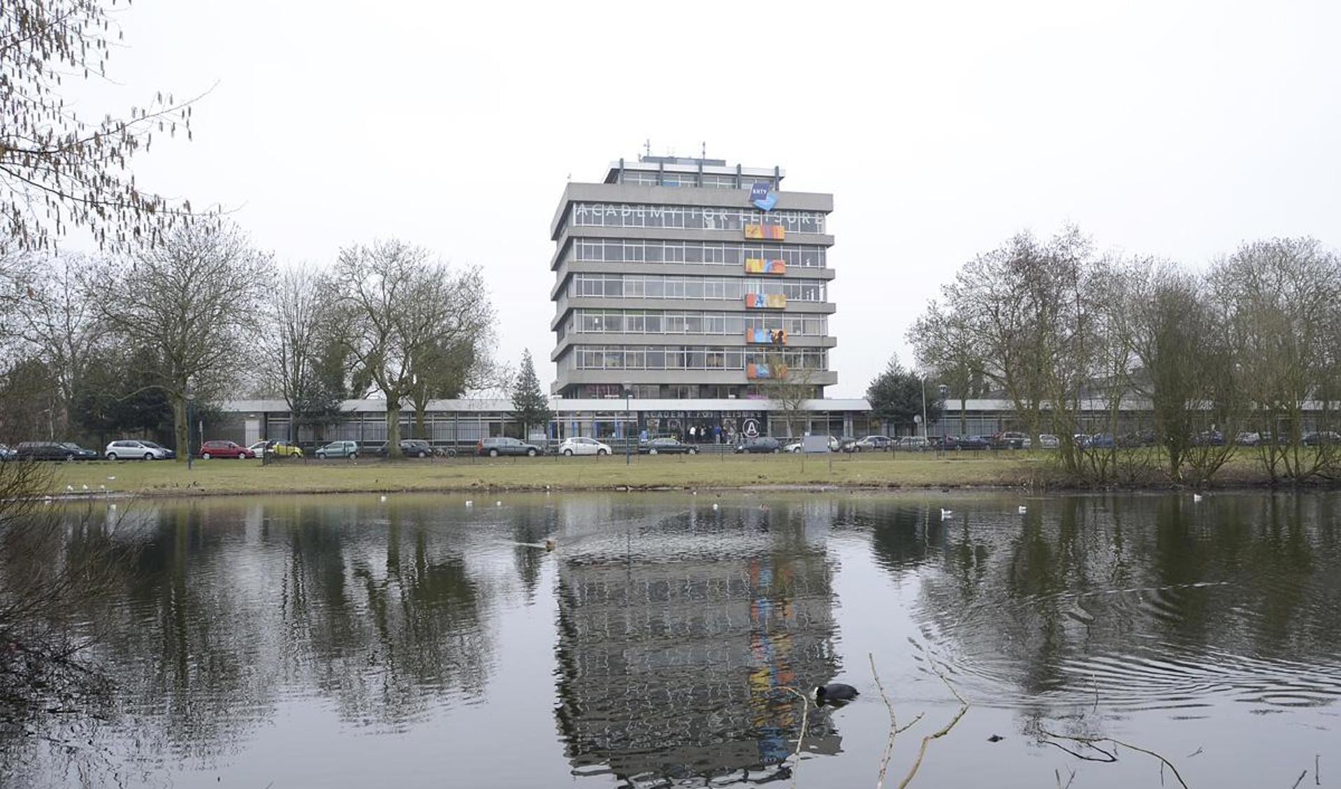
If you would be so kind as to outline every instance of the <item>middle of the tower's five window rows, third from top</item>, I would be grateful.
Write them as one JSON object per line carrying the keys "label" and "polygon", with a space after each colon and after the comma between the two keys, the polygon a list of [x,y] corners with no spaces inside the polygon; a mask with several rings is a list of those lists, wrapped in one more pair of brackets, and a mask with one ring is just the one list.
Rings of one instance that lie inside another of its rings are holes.
{"label": "middle of the tower's five window rows, third from top", "polygon": [[632,299],[716,299],[738,302],[746,294],[783,294],[790,302],[825,301],[822,279],[719,279],[658,274],[574,274],[569,297]]}

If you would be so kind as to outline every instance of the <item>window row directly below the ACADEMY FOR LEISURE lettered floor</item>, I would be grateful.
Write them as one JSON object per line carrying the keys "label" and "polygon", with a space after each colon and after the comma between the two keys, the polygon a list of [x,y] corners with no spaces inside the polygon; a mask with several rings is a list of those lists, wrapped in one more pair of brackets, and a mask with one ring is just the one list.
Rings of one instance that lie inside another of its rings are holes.
{"label": "window row directly below the ACADEMY FOR LEISURE lettered floor", "polygon": [[763,244],[727,244],[721,242],[638,242],[629,239],[577,239],[569,248],[569,260],[606,260],[611,263],[704,263],[708,266],[744,266],[751,258],[783,260],[789,268],[825,268],[827,250],[811,244],[766,247]]}

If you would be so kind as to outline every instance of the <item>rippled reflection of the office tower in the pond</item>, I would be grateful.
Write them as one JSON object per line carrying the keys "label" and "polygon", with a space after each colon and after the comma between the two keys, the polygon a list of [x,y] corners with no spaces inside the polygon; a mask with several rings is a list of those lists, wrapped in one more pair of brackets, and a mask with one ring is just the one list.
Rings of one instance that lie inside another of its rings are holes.
{"label": "rippled reflection of the office tower in the pond", "polygon": [[[657,530],[587,539],[561,562],[569,758],[638,784],[767,770],[801,726],[799,699],[780,688],[835,671],[822,549],[801,523],[646,526]],[[837,751],[826,717],[811,715],[805,745]]]}

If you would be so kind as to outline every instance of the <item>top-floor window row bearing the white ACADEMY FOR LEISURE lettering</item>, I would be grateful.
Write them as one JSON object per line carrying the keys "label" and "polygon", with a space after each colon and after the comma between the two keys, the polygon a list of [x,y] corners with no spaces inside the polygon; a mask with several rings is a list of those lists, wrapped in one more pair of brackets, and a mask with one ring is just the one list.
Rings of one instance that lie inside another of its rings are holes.
{"label": "top-floor window row bearing the white ACADEMY FOR LEISURE lettering", "polygon": [[699,208],[633,203],[577,203],[567,227],[669,227],[687,229],[744,229],[747,224],[778,224],[793,233],[825,232],[818,211],[758,211],[754,208]]}

